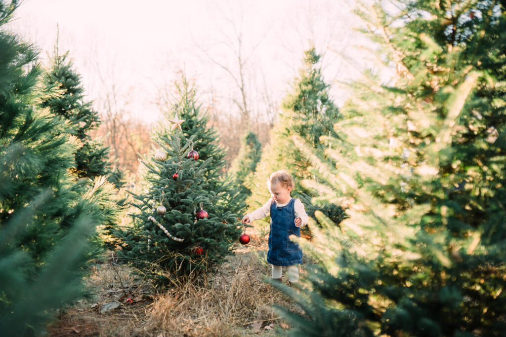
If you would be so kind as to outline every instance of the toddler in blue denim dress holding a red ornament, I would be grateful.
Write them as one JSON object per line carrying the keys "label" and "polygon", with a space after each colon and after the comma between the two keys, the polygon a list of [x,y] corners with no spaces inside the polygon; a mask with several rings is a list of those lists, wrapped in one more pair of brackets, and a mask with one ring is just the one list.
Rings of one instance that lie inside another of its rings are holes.
{"label": "toddler in blue denim dress holding a red ornament", "polygon": [[290,235],[301,236],[301,226],[308,223],[308,215],[299,199],[290,197],[294,187],[290,174],[284,170],[274,172],[267,179],[271,199],[256,211],[246,214],[242,222],[248,223],[271,215],[269,253],[267,262],[272,265],[272,278],[281,281],[281,267],[286,266],[288,280],[299,281],[302,250],[290,241]]}

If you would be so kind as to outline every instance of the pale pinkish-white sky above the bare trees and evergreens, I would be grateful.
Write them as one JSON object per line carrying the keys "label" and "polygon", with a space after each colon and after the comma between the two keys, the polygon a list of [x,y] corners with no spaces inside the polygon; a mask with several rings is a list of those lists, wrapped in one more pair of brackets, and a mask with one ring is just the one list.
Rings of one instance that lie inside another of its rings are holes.
{"label": "pale pinkish-white sky above the bare trees and evergreens", "polygon": [[43,62],[59,32],[60,54],[69,52],[97,110],[114,92],[118,109],[150,122],[159,118],[157,103],[174,92],[182,70],[195,81],[202,103],[213,97],[219,110],[237,113],[233,76],[240,52],[250,107],[264,118],[266,101],[279,106],[310,41],[323,54],[332,98],[344,102],[339,81],[357,76],[368,62],[360,52],[365,40],[354,31],[360,20],[348,3],[24,0],[8,29],[34,43]]}

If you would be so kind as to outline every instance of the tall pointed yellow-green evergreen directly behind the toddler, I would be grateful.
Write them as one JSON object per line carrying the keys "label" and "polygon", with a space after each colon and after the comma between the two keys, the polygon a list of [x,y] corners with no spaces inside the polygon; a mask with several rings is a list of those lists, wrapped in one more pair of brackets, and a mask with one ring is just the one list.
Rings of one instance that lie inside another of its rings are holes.
{"label": "tall pointed yellow-green evergreen directly behind the toddler", "polygon": [[[255,174],[246,179],[245,185],[251,190],[251,196],[246,200],[249,210],[263,206],[270,198],[266,180],[272,172],[280,169],[291,173],[300,192],[311,196],[317,194],[316,190],[299,184],[313,175],[308,170],[310,162],[293,145],[292,136],[302,137],[313,151],[321,153],[323,145],[320,137],[334,135],[333,123],[338,120],[339,110],[329,98],[329,85],[323,80],[319,60],[320,55],[314,47],[304,53],[303,66],[283,101],[283,112],[271,130],[269,145],[262,153]],[[309,199],[302,200],[307,202]],[[339,211],[342,218],[344,212]],[[259,220],[259,223],[267,226],[269,219]]]}

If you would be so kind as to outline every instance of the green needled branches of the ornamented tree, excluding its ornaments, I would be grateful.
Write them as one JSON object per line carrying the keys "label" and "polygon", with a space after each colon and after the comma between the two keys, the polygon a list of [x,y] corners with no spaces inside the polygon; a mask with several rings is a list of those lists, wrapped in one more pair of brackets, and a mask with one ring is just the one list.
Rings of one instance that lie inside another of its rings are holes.
{"label": "green needled branches of the ornamented tree, excluding its ornaments", "polygon": [[[209,272],[223,261],[238,236],[235,214],[217,206],[220,196],[209,189],[204,177],[213,159],[186,158],[191,142],[182,146],[179,137],[176,133],[171,139],[156,139],[168,159],[145,163],[149,189],[145,194],[134,195],[132,204],[140,212],[132,214],[132,227],[116,233],[122,240],[119,255],[143,268],[159,285],[167,281],[167,272],[172,277]],[[174,180],[176,172],[179,177]],[[166,213],[157,214],[158,206],[164,206]],[[195,212],[201,207],[208,218],[197,220]],[[183,241],[168,237],[150,217]],[[202,254],[198,254],[198,247],[203,249]]]}

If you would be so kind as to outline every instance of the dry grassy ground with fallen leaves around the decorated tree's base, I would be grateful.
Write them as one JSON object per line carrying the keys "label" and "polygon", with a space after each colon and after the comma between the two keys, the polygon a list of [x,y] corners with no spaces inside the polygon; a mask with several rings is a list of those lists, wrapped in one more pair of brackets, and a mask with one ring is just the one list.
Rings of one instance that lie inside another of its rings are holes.
{"label": "dry grassy ground with fallen leaves around the decorated tree's base", "polygon": [[[180,284],[163,294],[155,294],[129,266],[111,262],[95,266],[87,279],[95,297],[66,309],[48,329],[50,335],[222,337],[268,335],[275,326],[287,328],[272,305],[291,304],[263,281],[270,268],[256,253],[261,240],[252,229],[248,232],[252,245],[237,245],[235,254],[205,282]],[[100,313],[111,301],[121,306]]]}

